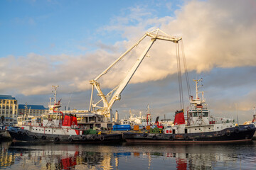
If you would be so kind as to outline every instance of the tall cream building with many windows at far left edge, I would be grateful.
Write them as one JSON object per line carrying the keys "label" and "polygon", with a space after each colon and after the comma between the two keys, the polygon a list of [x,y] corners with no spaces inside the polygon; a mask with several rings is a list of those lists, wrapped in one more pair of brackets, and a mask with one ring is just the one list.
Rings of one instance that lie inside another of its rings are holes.
{"label": "tall cream building with many windows at far left edge", "polygon": [[0,95],[0,118],[3,123],[12,125],[17,123],[18,101],[9,95]]}

